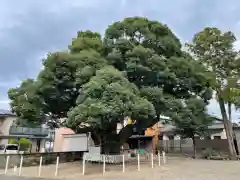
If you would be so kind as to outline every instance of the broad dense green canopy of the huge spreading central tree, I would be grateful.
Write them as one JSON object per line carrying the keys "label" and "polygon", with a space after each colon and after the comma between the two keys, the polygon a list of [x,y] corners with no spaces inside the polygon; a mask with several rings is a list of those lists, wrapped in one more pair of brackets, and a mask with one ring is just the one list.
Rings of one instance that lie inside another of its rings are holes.
{"label": "broad dense green canopy of the huge spreading central tree", "polygon": [[[113,132],[126,116],[144,129],[172,116],[182,100],[207,102],[210,80],[167,25],[131,17],[110,25],[104,38],[79,31],[68,50],[49,53],[38,77],[9,90],[9,98],[21,118],[64,117],[75,131],[85,123],[93,132]],[[27,112],[23,104],[31,104]]]}

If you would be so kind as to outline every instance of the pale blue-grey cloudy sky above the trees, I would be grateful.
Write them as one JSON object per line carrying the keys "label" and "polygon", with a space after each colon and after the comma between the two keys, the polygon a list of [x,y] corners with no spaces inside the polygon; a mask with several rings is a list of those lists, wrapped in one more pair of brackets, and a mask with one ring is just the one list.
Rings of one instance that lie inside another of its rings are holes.
{"label": "pale blue-grey cloudy sky above the trees", "polygon": [[[8,88],[35,77],[46,53],[65,49],[78,30],[104,32],[140,15],[168,24],[182,42],[205,26],[240,39],[239,12],[239,0],[0,0],[0,109],[9,108]],[[209,112],[219,115],[214,101]]]}

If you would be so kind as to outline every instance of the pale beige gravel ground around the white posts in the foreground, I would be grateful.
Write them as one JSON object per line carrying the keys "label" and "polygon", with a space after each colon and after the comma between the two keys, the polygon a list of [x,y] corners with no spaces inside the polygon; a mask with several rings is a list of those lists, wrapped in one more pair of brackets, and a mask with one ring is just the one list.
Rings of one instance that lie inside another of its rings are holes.
{"label": "pale beige gravel ground around the white posts in the foreground", "polygon": [[[106,165],[106,172],[102,174],[102,164],[86,165],[86,175],[82,175],[81,163],[67,163],[59,166],[59,179],[64,180],[239,180],[240,161],[211,161],[193,160],[188,158],[168,158],[167,164],[157,166],[157,161],[151,168],[150,161],[142,161],[140,172],[137,171],[137,162],[126,164],[122,172],[122,165]],[[55,166],[43,166],[42,177],[45,180],[53,178]],[[9,174],[13,174],[9,170]],[[23,168],[23,176],[36,177],[37,167]],[[57,178],[57,179],[58,179]],[[2,179],[1,180],[8,180]],[[14,180],[18,180],[14,178]],[[19,179],[22,180],[22,179]],[[35,180],[26,179],[26,180]]]}

